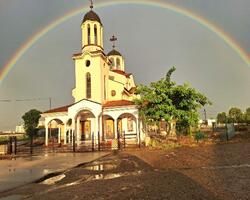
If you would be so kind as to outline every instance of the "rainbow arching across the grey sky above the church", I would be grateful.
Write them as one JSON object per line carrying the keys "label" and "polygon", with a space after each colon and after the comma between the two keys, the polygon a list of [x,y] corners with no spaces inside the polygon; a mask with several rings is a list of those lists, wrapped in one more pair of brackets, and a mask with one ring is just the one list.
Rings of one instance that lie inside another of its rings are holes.
{"label": "rainbow arching across the grey sky above the church", "polygon": [[[221,38],[230,48],[232,48],[239,56],[240,58],[248,65],[250,66],[250,58],[248,54],[244,51],[243,48],[240,47],[237,42],[230,37],[228,34],[226,34],[222,29],[217,27],[216,25],[212,24],[208,20],[190,12],[189,10],[186,10],[184,8],[177,7],[173,4],[162,2],[160,0],[104,0],[101,3],[96,3],[95,7],[101,8],[106,7],[110,5],[123,5],[123,4],[135,4],[135,5],[146,5],[146,6],[152,6],[152,7],[160,7],[164,9],[168,9],[170,11],[173,11],[177,14],[183,15],[185,17],[188,17],[195,21],[196,23],[200,24],[201,26],[207,28],[211,32],[215,33],[219,38]],[[8,75],[10,70],[16,65],[18,60],[36,43],[39,41],[40,38],[42,38],[45,34],[47,34],[50,30],[54,29],[61,23],[65,22],[66,20],[70,19],[71,17],[78,15],[80,13],[84,13],[88,10],[88,7],[81,7],[76,10],[72,10],[66,15],[56,19],[52,23],[50,23],[45,28],[38,31],[36,34],[34,34],[31,38],[29,38],[17,51],[16,53],[11,57],[11,59],[4,65],[4,67],[0,70],[0,83],[4,80],[4,78]]]}

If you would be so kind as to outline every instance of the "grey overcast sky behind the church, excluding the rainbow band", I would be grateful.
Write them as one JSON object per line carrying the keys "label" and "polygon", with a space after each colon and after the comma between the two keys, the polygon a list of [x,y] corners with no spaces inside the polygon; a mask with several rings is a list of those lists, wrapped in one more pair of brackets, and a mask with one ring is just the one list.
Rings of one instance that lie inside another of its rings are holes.
{"label": "grey overcast sky behind the church, excluding the rainbow band", "polygon": [[[94,4],[103,2],[96,0]],[[114,2],[119,2],[116,0]],[[104,25],[105,52],[109,38],[118,38],[126,72],[137,84],[163,77],[172,66],[173,80],[187,82],[213,103],[209,117],[236,106],[250,107],[250,66],[217,34],[197,21],[166,8],[142,4],[94,7]],[[154,2],[154,1],[151,1]],[[249,0],[162,0],[216,25],[250,55]],[[87,0],[0,0],[0,70],[35,33]],[[73,102],[74,63],[81,49],[80,25],[86,9],[43,35],[0,81],[0,130],[14,130],[32,108],[41,111]],[[34,101],[16,101],[34,99]]]}

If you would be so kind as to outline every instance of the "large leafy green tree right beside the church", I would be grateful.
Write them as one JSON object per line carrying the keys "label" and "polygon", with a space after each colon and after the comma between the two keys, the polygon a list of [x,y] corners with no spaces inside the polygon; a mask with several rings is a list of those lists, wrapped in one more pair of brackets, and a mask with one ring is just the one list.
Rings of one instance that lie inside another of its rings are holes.
{"label": "large leafy green tree right beside the church", "polygon": [[174,119],[179,127],[194,126],[199,118],[198,109],[210,104],[207,97],[188,84],[176,85],[172,82],[171,75],[175,70],[172,67],[165,78],[152,82],[149,86],[138,86],[137,94],[140,97],[135,99],[135,103],[146,122],[157,123],[164,120],[170,125],[170,121]]}

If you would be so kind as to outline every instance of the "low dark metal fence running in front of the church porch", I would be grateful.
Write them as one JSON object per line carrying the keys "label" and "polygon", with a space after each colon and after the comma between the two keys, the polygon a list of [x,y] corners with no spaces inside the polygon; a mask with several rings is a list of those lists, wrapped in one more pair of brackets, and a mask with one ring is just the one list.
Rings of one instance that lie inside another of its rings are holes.
{"label": "low dark metal fence running in front of the church porch", "polygon": [[127,148],[140,147],[140,141],[137,139],[136,134],[125,134],[125,132],[117,134],[117,138],[104,140],[100,133],[97,136],[91,134],[91,140],[76,141],[73,134],[72,142],[64,145],[58,143],[56,137],[51,137],[49,145],[45,147],[44,137],[34,138],[31,140],[19,140],[15,136],[8,137],[4,143],[0,144],[0,154],[9,155],[26,155],[26,154],[41,154],[49,152],[92,152],[92,151],[109,151],[109,150],[124,150]]}

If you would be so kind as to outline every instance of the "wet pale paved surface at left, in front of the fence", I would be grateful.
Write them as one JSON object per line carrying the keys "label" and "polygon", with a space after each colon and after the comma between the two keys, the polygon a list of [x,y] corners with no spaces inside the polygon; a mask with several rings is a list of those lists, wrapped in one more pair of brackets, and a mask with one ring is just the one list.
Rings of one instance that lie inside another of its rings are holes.
{"label": "wet pale paved surface at left, in front of the fence", "polygon": [[107,152],[47,153],[15,160],[0,160],[0,192],[36,181],[51,173],[91,162],[107,154]]}

